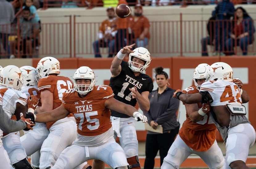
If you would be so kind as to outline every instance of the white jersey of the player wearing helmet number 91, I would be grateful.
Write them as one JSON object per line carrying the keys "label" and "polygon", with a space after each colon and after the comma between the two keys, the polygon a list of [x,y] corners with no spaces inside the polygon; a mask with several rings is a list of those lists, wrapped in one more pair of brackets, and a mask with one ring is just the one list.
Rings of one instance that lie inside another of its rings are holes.
{"label": "white jersey of the player wearing helmet number 91", "polygon": [[[2,96],[2,108],[5,113],[7,113],[8,117],[12,120],[17,120],[14,115],[16,110],[16,104],[20,103],[23,106],[27,105],[27,96],[19,90],[15,90],[12,88],[4,88],[0,87],[0,94]],[[3,136],[7,134],[4,133]]]}

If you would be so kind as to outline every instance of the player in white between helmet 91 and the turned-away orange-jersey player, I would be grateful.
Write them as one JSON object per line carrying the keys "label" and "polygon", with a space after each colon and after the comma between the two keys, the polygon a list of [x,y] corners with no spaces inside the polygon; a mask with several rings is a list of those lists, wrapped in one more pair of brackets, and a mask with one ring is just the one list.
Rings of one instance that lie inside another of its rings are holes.
{"label": "player in white between helmet 91 and the turned-away orange-jersey player", "polygon": [[[32,66],[23,66],[20,70],[24,76],[24,82],[21,88],[22,93],[25,93],[28,98],[36,96],[40,99],[40,92],[35,78],[35,76],[38,75],[38,71]],[[34,109],[30,112],[34,112]],[[35,168],[39,168],[40,149],[43,141],[49,134],[49,130],[45,123],[36,123],[33,129],[34,130],[24,131],[25,135],[23,135],[20,140],[26,150],[26,154],[28,156],[31,155],[31,165]]]}

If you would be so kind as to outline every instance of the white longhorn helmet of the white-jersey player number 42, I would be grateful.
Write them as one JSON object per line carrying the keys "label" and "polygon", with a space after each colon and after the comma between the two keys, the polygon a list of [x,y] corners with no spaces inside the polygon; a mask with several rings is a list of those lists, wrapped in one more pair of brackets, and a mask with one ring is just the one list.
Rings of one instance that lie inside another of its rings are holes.
{"label": "white longhorn helmet of the white-jersey player number 42", "polygon": [[233,69],[229,64],[216,62],[211,65],[212,70],[208,73],[209,80],[233,80]]}

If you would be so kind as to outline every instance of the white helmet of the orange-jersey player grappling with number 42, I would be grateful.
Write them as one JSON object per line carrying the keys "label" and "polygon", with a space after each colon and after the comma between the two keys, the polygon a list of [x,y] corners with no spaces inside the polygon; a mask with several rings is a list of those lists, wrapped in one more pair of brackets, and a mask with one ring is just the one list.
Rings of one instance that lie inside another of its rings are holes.
{"label": "white helmet of the orange-jersey player grappling with number 42", "polygon": [[197,84],[197,79],[205,79],[206,81],[206,74],[211,70],[211,66],[209,64],[199,64],[193,74],[193,80],[196,85],[196,89],[200,90],[200,86]]}

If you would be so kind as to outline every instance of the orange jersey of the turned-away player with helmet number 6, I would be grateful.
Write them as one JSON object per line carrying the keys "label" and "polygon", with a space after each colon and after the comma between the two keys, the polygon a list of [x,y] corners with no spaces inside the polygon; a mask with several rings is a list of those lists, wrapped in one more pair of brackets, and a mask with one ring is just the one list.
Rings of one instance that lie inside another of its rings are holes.
{"label": "orange jersey of the turned-away player with helmet number 6", "polygon": [[[49,90],[53,93],[53,109],[56,109],[62,104],[63,93],[73,88],[73,83],[68,77],[64,76],[47,76],[43,77],[38,82],[38,90]],[[71,117],[72,115],[68,115]],[[58,123],[64,122],[65,119],[58,120]],[[50,129],[55,122],[47,122],[47,129]],[[56,123],[57,124],[57,123]]]}

